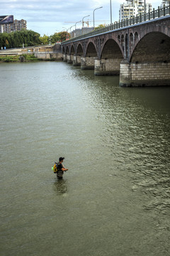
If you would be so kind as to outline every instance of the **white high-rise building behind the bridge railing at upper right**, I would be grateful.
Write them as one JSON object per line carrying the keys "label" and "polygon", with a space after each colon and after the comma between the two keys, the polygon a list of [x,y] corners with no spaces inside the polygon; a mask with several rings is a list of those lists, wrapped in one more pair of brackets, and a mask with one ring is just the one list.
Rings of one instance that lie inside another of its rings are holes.
{"label": "white high-rise building behind the bridge railing at upper right", "polygon": [[[144,4],[144,0],[126,0],[127,3],[120,4],[119,20],[124,21],[126,18],[133,18],[138,14],[144,14],[152,11],[152,4]],[[144,8],[145,6],[145,8]]]}

